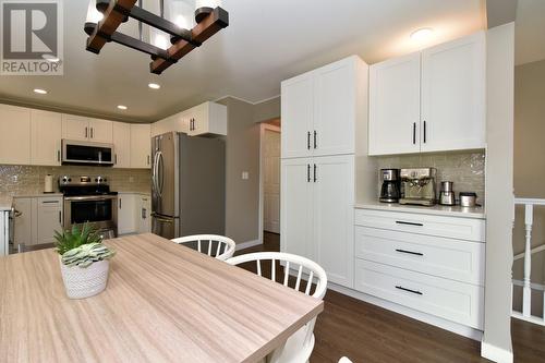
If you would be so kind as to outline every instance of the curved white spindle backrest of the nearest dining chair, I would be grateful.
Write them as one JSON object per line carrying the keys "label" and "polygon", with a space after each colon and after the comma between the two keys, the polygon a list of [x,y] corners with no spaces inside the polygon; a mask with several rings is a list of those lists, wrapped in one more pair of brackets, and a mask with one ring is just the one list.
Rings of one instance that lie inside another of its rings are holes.
{"label": "curved white spindle backrest of the nearest dining chair", "polygon": [[316,264],[314,261],[308,258],[292,255],[289,253],[282,252],[257,252],[257,253],[249,253],[245,255],[240,255],[237,257],[229,258],[227,263],[231,265],[240,265],[247,262],[255,262],[257,265],[257,275],[262,275],[262,261],[270,261],[270,279],[276,281],[277,273],[276,273],[276,262],[280,262],[283,268],[283,286],[289,287],[289,275],[290,270],[296,271],[296,280],[295,286],[293,287],[295,290],[300,290],[301,280],[303,276],[306,278],[306,286],[304,289],[305,294],[311,293],[311,287],[314,283],[314,279],[316,280],[316,288],[312,297],[316,299],[324,299],[327,290],[327,275],[324,268]]}

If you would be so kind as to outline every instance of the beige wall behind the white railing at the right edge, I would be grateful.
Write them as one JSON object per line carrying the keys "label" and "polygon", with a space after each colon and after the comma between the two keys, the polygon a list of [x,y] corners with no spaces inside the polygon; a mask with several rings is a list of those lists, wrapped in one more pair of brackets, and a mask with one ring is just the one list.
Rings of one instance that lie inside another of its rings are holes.
{"label": "beige wall behind the white railing at the right edge", "polygon": [[[545,198],[545,60],[514,69],[514,195]],[[516,208],[514,254],[524,251],[524,208]],[[545,207],[534,210],[532,246],[545,244]],[[513,278],[522,280],[524,259],[513,263]],[[545,252],[532,256],[532,282],[545,282]],[[521,310],[522,289],[513,291],[513,306]],[[543,294],[532,299],[532,314],[543,314]]]}

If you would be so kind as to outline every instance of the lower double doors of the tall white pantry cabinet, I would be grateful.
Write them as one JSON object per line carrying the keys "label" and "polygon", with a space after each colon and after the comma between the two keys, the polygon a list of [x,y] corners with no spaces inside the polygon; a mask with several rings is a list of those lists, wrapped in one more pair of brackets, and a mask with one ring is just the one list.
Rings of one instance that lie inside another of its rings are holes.
{"label": "lower double doors of the tall white pantry cabinet", "polygon": [[353,286],[354,156],[284,159],[281,251],[308,257]]}

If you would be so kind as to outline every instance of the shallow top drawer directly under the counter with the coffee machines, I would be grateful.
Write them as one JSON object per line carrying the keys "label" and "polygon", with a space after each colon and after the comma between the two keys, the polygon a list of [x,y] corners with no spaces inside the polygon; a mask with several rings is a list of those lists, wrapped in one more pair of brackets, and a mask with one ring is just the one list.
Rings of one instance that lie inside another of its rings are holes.
{"label": "shallow top drawer directly under the counter with the coffee machines", "polygon": [[485,241],[483,219],[372,209],[355,209],[354,215],[356,226],[468,241]]}

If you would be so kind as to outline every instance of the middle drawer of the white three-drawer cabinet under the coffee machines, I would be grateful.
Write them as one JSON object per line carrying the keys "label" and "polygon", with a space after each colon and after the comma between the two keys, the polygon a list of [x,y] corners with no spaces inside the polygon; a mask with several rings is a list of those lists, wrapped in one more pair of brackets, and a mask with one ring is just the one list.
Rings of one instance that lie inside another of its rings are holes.
{"label": "middle drawer of the white three-drawer cabinet under the coffee machines", "polygon": [[356,226],[355,256],[484,286],[484,243]]}

